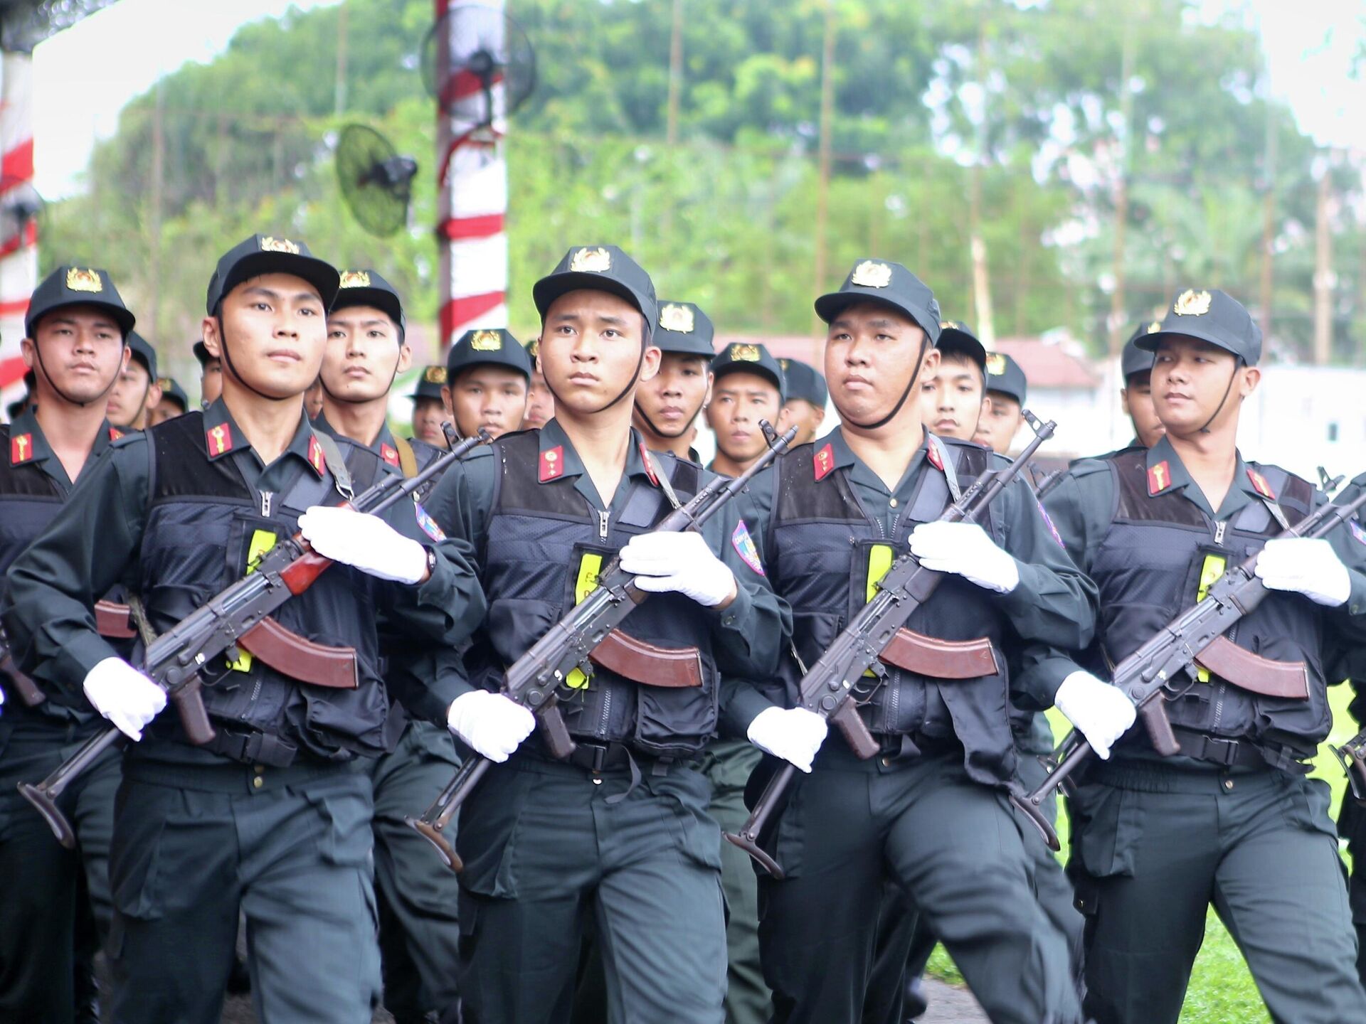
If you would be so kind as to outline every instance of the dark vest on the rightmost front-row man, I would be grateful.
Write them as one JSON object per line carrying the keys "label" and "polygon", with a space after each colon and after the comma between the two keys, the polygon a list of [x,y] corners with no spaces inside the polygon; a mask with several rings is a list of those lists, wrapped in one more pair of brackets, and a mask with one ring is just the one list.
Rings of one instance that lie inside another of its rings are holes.
{"label": "dark vest on the rightmost front-row man", "polygon": [[[1221,560],[1231,568],[1259,552],[1281,527],[1262,501],[1246,505],[1220,528],[1179,490],[1150,497],[1143,449],[1117,452],[1105,461],[1117,497],[1111,527],[1091,560],[1091,579],[1100,587],[1098,636],[1106,661],[1115,665],[1195,603],[1202,575],[1208,582]],[[1309,515],[1314,500],[1309,483],[1274,466],[1249,466],[1265,477],[1292,526]],[[1332,721],[1320,609],[1299,595],[1272,594],[1233,625],[1228,639],[1272,661],[1305,662],[1309,699],[1261,696],[1214,676],[1167,705],[1172,724],[1310,756],[1328,737]],[[1150,750],[1143,729],[1131,729],[1120,745]]]}

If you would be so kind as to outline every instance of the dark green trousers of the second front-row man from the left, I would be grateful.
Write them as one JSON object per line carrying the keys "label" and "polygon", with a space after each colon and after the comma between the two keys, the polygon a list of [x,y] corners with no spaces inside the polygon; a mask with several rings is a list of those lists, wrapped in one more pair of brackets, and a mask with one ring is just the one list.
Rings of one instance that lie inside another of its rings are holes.
{"label": "dark green trousers of the second front-row man from the left", "polygon": [[608,1021],[720,1024],[725,919],[710,786],[683,765],[641,770],[626,795],[624,770],[594,776],[519,752],[460,808],[467,1023],[567,1020],[591,920]]}

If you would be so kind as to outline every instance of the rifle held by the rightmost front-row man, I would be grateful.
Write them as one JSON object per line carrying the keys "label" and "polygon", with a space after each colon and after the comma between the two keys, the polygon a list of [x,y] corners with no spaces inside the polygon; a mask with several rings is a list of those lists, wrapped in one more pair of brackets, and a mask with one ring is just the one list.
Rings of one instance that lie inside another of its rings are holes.
{"label": "rifle held by the rightmost front-row man", "polygon": [[[1366,489],[1346,505],[1320,505],[1277,537],[1326,537],[1351,519],[1362,504],[1366,504]],[[1253,694],[1309,698],[1309,672],[1303,662],[1270,661],[1239,647],[1225,636],[1272,593],[1257,576],[1255,568],[1257,556],[1253,554],[1224,572],[1210,584],[1202,601],[1182,612],[1115,666],[1115,685],[1138,707],[1138,717],[1143,721],[1153,748],[1164,758],[1182,752],[1167,717],[1167,702],[1194,685],[1197,666]],[[1191,683],[1177,687],[1180,676],[1190,677]],[[1366,739],[1362,745],[1366,747]],[[1029,803],[1037,808],[1090,755],[1091,745],[1078,736],[1076,744],[1061,763],[1026,797]],[[1348,771],[1350,777],[1351,774]],[[1052,830],[1045,831],[1044,838],[1049,848],[1059,848],[1057,836]]]}

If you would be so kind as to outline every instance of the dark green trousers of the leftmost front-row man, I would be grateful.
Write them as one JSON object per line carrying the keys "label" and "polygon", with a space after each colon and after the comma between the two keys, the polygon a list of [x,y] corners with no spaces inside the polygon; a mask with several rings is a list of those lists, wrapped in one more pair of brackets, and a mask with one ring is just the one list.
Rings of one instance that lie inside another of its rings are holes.
{"label": "dark green trousers of the leftmost front-row man", "polygon": [[369,777],[348,767],[126,759],[109,859],[115,1024],[219,1024],[239,908],[260,1021],[369,1024],[372,812]]}

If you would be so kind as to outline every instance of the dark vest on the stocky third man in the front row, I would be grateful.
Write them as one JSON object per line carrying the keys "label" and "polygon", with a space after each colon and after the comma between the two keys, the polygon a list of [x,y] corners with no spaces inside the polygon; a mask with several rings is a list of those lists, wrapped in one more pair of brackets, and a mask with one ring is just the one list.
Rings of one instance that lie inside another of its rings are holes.
{"label": "dark vest on the stocky third man in the front row", "polygon": [[[979,445],[944,438],[953,472],[966,489],[985,470],[992,455]],[[850,486],[844,470],[822,479],[813,472],[814,445],[806,444],[781,459],[775,479],[775,509],[765,564],[773,587],[792,606],[792,640],[800,665],[784,664],[788,702],[796,703],[802,666],[810,668],[869,599],[869,573],[885,571],[885,549],[892,557],[908,550],[919,523],[938,519],[951,504],[948,479],[926,460],[915,493],[892,537],[870,516]],[[982,527],[1004,545],[1004,527],[994,508]],[[882,550],[877,552],[876,547]],[[958,737],[968,776],[999,784],[1015,770],[1009,728],[1009,677],[1001,657],[1005,620],[992,594],[948,575],[934,595],[907,621],[907,627],[944,640],[986,636],[996,649],[997,670],[968,680],[936,680],[885,666],[887,681],[873,689],[859,714],[878,737],[912,736],[922,740]],[[784,659],[791,662],[791,659]],[[872,684],[873,680],[865,680]],[[840,740],[835,740],[840,741]]]}

